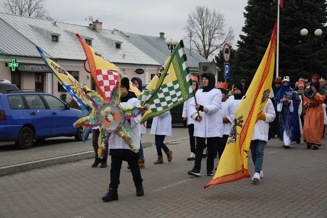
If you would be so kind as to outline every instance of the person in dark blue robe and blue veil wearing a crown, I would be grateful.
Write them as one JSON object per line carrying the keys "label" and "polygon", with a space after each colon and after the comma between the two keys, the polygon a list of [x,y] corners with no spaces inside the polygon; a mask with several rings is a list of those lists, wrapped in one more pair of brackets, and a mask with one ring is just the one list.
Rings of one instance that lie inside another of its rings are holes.
{"label": "person in dark blue robe and blue veil wearing a crown", "polygon": [[289,76],[285,76],[282,82],[281,89],[275,97],[275,104],[279,112],[280,140],[287,149],[292,142],[301,138],[298,114],[301,99],[298,93],[290,88]]}

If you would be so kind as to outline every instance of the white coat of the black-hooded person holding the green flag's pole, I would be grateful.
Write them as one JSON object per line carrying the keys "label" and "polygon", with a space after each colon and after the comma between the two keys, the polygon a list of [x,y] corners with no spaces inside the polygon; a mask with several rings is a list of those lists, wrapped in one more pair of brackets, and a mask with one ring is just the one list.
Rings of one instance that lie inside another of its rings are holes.
{"label": "white coat of the black-hooded person holding the green flag's pole", "polygon": [[[209,92],[202,92],[199,89],[195,94],[198,104],[207,109],[206,112],[199,111],[202,117],[201,122],[196,121],[194,124],[194,136],[196,137],[222,137],[223,136],[223,116],[221,106],[221,91],[219,89],[212,89]],[[192,98],[190,106],[191,116],[197,113],[195,109],[195,100]]]}

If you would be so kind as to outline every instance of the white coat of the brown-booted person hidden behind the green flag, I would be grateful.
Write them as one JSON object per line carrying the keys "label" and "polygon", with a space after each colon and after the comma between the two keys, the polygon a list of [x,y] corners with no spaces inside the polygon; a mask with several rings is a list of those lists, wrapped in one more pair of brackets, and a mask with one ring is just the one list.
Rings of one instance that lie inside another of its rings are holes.
{"label": "white coat of the brown-booted person hidden behind the green flag", "polygon": [[153,117],[151,125],[151,135],[165,135],[172,136],[171,132],[171,114],[170,111],[166,111],[159,116]]}

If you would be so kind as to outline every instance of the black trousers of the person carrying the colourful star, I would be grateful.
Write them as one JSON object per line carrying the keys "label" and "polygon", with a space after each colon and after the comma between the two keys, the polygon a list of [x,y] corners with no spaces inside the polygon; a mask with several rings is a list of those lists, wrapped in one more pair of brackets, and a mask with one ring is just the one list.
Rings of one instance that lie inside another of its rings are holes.
{"label": "black trousers of the person carrying the colourful star", "polygon": [[127,161],[130,170],[132,172],[134,185],[142,185],[143,179],[141,176],[141,171],[139,167],[139,156],[111,156],[111,169],[110,169],[110,188],[118,188],[120,184],[120,169],[122,168],[122,163]]}

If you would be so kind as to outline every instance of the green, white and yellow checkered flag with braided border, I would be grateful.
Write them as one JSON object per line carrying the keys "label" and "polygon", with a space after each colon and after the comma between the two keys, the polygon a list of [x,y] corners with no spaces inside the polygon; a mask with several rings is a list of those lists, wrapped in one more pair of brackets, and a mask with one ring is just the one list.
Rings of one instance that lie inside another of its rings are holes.
{"label": "green, white and yellow checkered flag with braided border", "polygon": [[174,108],[194,95],[184,43],[181,40],[138,98],[141,105],[150,105],[142,115],[141,123]]}

